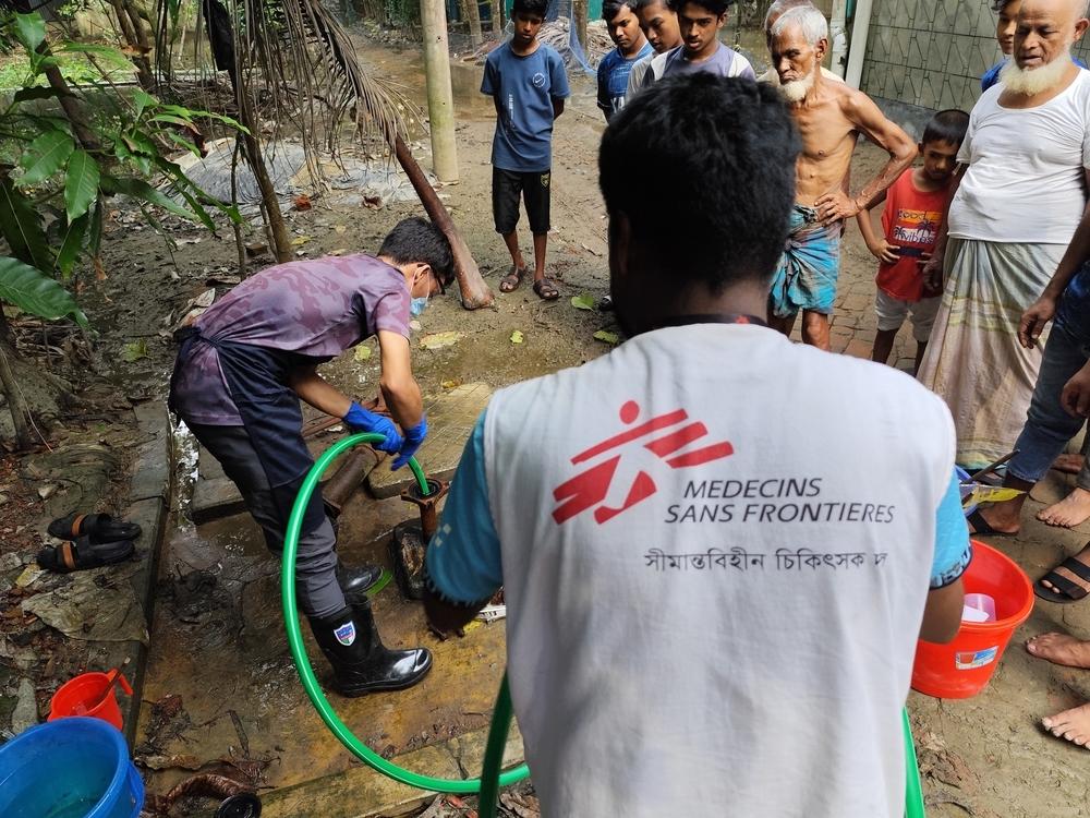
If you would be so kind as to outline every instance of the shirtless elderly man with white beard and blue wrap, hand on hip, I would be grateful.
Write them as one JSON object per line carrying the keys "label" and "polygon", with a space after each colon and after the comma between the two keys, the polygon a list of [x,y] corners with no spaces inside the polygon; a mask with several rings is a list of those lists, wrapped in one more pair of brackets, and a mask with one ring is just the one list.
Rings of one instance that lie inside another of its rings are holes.
{"label": "shirtless elderly man with white beard and blue wrap, hand on hip", "polygon": [[[801,311],[802,340],[821,349],[828,349],[844,220],[893,184],[917,152],[908,134],[865,94],[825,80],[821,61],[827,49],[828,24],[813,7],[788,9],[772,26],[772,65],[802,136],[802,153],[791,232],[773,279],[768,322],[789,335]],[[889,160],[852,199],[848,171],[859,134],[884,148]]]}

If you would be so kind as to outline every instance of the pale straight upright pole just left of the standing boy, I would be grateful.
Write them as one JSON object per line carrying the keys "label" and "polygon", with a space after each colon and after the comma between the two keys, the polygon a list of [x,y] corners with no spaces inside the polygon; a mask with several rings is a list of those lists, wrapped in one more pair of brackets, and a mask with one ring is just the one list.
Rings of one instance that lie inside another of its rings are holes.
{"label": "pale straight upright pole just left of the standing boy", "polygon": [[458,181],[458,151],[455,145],[455,95],[450,88],[447,9],[443,0],[421,0],[420,11],[424,31],[424,79],[432,132],[432,166],[440,182],[455,182]]}

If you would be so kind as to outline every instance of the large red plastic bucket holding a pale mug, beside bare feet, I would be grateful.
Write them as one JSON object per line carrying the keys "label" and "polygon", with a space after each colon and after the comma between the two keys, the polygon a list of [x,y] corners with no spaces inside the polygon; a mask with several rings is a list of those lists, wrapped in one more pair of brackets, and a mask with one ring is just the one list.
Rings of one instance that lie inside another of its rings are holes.
{"label": "large red plastic bucket holding a pale mug, beside bare feet", "polygon": [[1015,629],[1033,610],[1033,585],[1010,557],[972,541],[966,593],[995,600],[995,622],[962,622],[949,645],[920,639],[912,666],[912,689],[943,699],[976,696],[995,673]]}

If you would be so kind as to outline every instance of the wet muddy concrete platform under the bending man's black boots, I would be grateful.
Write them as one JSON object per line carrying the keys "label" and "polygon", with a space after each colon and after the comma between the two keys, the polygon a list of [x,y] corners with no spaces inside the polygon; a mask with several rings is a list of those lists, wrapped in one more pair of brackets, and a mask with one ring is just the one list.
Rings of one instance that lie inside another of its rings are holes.
{"label": "wet muddy concrete platform under the bending man's black boots", "polygon": [[[341,516],[341,558],[390,568],[390,532],[414,515],[398,498],[376,501],[356,492]],[[279,565],[247,515],[195,528],[171,521],[160,562],[137,758],[255,762],[265,768],[264,783],[275,787],[358,766],[322,723],[298,679],[283,630]],[[387,757],[486,727],[506,663],[504,623],[474,623],[464,639],[439,641],[427,630],[420,603],[403,600],[392,582],[378,593],[374,610],[388,646],[426,646],[435,664],[423,683],[401,693],[344,699],[327,686],[341,719]],[[325,682],[329,669],[305,623],[303,633]],[[181,708],[162,724],[149,705],[168,696],[180,697]],[[165,792],[187,774],[169,767],[153,771],[149,789]]]}

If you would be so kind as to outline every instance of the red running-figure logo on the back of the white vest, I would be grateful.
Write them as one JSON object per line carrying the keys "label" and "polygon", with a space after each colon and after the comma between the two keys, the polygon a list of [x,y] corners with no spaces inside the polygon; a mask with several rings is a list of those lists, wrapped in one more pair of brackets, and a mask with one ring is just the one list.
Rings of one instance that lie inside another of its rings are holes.
{"label": "red running-figure logo on the back of the white vest", "polygon": [[[635,423],[640,417],[640,405],[634,400],[629,400],[620,408],[620,420],[627,426]],[[632,443],[625,452],[617,452],[611,457],[592,466],[568,482],[553,490],[553,498],[558,503],[553,510],[553,519],[564,522],[578,514],[582,514],[591,506],[598,505],[594,509],[594,519],[601,526],[607,520],[611,520],[621,512],[631,508],[640,501],[646,500],[656,491],[658,486],[651,474],[644,469],[644,464],[653,467],[659,460],[665,460],[671,469],[683,469],[688,466],[700,466],[701,464],[720,460],[734,454],[734,446],[727,441],[712,443],[700,448],[691,448],[688,452],[678,454],[707,435],[707,428],[700,421],[687,422],[689,413],[685,409],[676,409],[673,412],[659,414],[637,426],[616,434],[613,437],[591,446],[585,452],[580,452],[571,462],[576,466],[588,460],[593,460],[598,455]],[[649,440],[645,443],[637,443],[641,437],[654,436],[657,432],[666,431],[662,436]],[[649,454],[650,453],[650,454]],[[631,482],[627,480],[618,481],[621,489],[610,497],[610,486],[617,473],[621,458],[628,468],[625,471],[634,474]],[[642,464],[639,461],[643,461]],[[628,485],[625,490],[623,485]],[[605,501],[609,500],[610,503]]]}

